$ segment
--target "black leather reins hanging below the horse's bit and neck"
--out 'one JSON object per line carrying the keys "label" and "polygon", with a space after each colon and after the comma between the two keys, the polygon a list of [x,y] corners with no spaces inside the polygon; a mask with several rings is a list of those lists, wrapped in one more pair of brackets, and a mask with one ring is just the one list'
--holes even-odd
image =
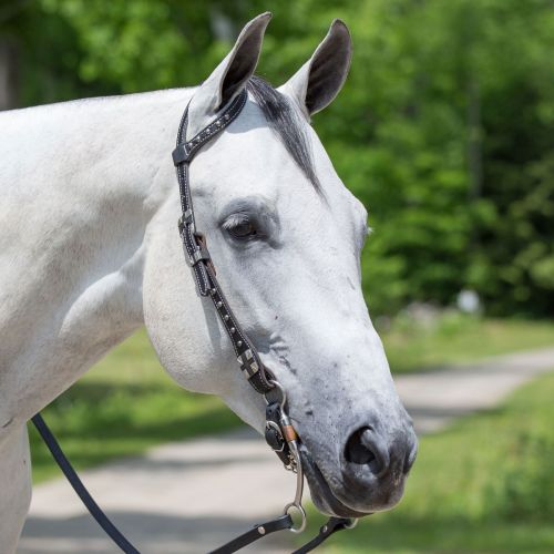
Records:
{"label": "black leather reins hanging below the horse's bit and neck", "polygon": [[[37,413],[31,421],[33,422],[37,431],[39,431],[44,444],[50,450],[55,463],[60,466],[66,480],[70,482],[82,503],[89,510],[90,514],[96,520],[98,524],[103,529],[104,533],[121,548],[125,554],[141,554],[122,534],[122,532],[111,522],[107,515],[96,504],[91,493],[86,490],[83,482],[79,478],[71,462],[68,460],[63,450],[61,449],[54,434],[47,425],[47,422],[40,413]],[[311,552],[316,546],[320,545],[324,541],[329,538],[334,533],[342,529],[348,529],[350,520],[331,517],[326,525],[319,530],[319,534],[304,546],[295,551],[293,554],[305,554]],[[232,554],[238,550],[252,544],[264,536],[267,536],[276,531],[284,531],[291,529],[294,525],[290,515],[285,514],[270,520],[266,523],[255,525],[252,530],[243,533],[242,535],[233,538],[219,548],[212,551],[211,554]]]}

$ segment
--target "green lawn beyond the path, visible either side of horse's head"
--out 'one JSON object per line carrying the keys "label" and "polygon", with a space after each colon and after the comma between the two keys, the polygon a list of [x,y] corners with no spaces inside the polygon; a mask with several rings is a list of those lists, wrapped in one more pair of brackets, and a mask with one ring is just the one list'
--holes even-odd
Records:
{"label": "green lawn beyond the path, visible either side of horse's head", "polygon": [[[409,371],[553,345],[554,324],[451,317],[421,329],[401,321],[383,334],[383,341],[392,369]],[[91,369],[44,410],[44,417],[79,469],[240,424],[218,399],[174,384],[144,330]],[[31,445],[35,482],[57,475],[34,429]]]}

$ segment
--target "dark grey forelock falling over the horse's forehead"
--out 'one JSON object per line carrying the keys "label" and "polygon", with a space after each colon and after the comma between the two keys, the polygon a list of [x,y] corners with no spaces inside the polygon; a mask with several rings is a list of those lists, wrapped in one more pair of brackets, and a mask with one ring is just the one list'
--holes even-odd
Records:
{"label": "dark grey forelock falling over the horse's forehead", "polygon": [[254,96],[269,125],[277,132],[287,152],[306,175],[314,188],[320,193],[309,147],[309,140],[298,122],[298,115],[284,94],[276,91],[267,81],[253,76],[246,85]]}

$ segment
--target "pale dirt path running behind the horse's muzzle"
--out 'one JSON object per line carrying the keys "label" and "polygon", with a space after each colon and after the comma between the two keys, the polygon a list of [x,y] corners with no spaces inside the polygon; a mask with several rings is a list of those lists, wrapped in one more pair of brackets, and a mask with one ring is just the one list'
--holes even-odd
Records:
{"label": "pale dirt path running behind the horse's muzzle", "polygon": [[[396,379],[419,434],[490,408],[554,369],[554,348],[490,358]],[[144,456],[83,472],[102,507],[143,554],[207,552],[279,513],[294,476],[250,430],[158,447]],[[287,552],[289,535],[249,552]],[[117,552],[64,480],[34,489],[19,554]],[[248,550],[245,550],[248,552]]]}

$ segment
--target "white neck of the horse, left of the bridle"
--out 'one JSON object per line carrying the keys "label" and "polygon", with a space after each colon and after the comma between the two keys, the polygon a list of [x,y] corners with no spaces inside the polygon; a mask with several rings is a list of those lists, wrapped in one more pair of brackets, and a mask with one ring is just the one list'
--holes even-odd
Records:
{"label": "white neck of the horse, left of the bridle", "polygon": [[0,252],[13,263],[0,273],[0,424],[13,407],[40,410],[143,324],[146,229],[176,186],[189,94],[2,115]]}

